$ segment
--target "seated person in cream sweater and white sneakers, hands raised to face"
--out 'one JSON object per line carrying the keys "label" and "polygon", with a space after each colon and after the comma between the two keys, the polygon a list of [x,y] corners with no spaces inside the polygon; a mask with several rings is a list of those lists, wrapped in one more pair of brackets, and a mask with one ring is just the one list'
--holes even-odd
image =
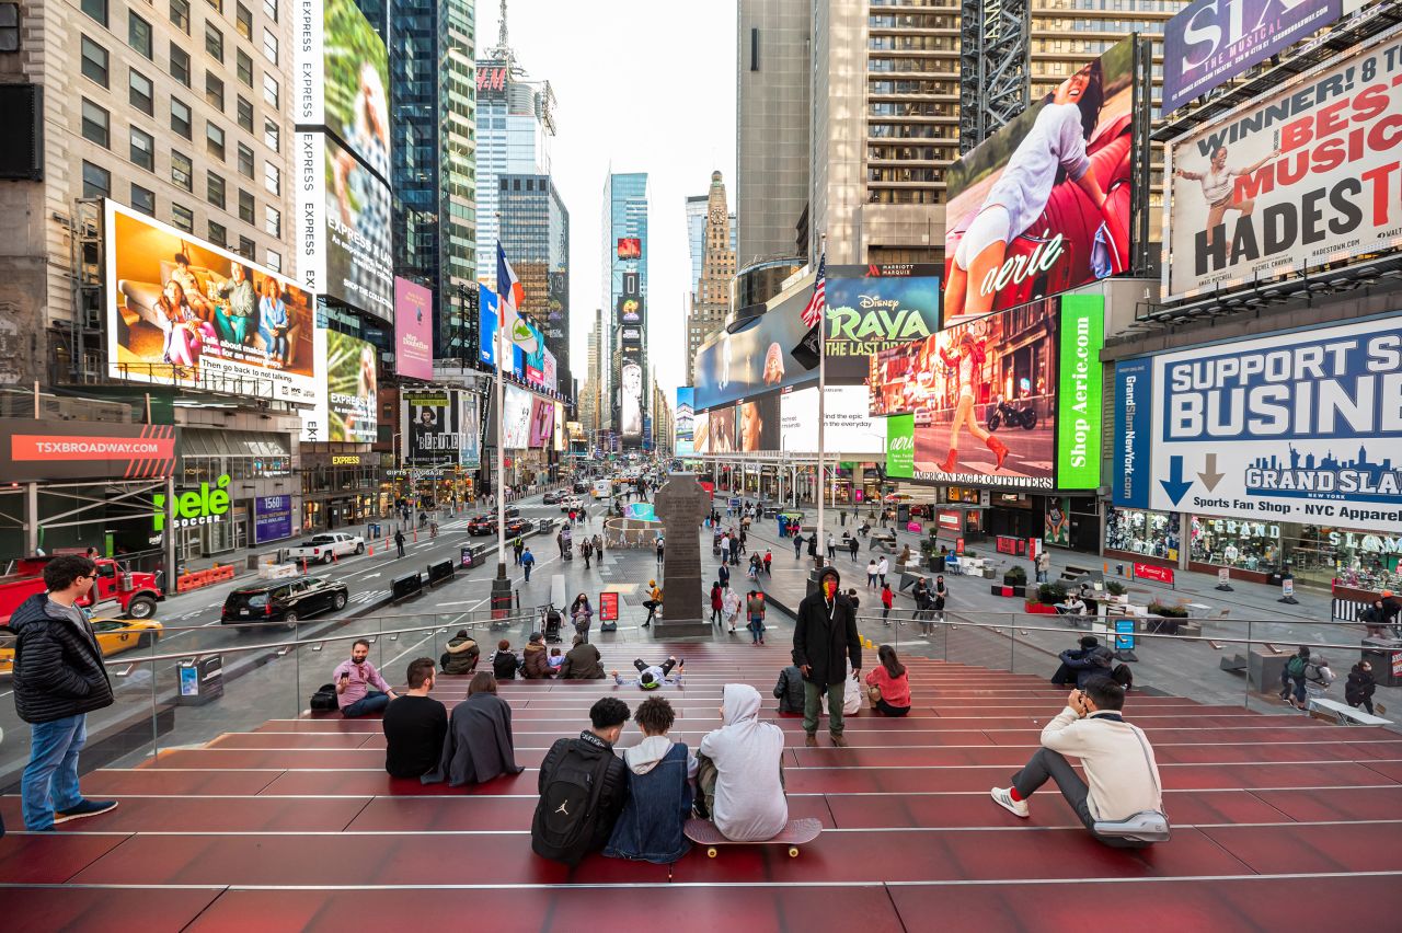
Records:
{"label": "seated person in cream sweater and white sneakers, hands raised to face", "polygon": [[[1071,691],[1066,709],[1042,730],[1042,747],[1012,776],[1011,787],[994,787],[993,801],[1015,817],[1032,815],[1028,801],[1047,780],[1091,834],[1115,848],[1140,848],[1126,827],[1145,815],[1162,820],[1162,783],[1154,748],[1144,731],[1124,721],[1124,688],[1108,677],[1089,678]],[[1085,780],[1067,755],[1081,759]],[[1116,825],[1119,824],[1119,825]]]}

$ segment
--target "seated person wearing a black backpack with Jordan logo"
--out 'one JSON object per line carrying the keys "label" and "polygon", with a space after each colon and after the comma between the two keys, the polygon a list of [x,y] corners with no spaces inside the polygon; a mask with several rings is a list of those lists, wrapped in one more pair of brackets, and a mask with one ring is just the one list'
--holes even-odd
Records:
{"label": "seated person wearing a black backpack with Jordan logo", "polygon": [[613,752],[628,705],[604,696],[589,709],[589,721],[579,738],[558,738],[545,752],[530,827],[531,850],[571,867],[608,843],[628,803],[628,766]]}

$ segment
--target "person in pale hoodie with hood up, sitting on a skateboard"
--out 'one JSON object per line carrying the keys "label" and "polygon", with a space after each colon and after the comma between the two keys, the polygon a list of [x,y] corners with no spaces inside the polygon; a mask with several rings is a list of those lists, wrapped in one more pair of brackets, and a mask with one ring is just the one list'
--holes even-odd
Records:
{"label": "person in pale hoodie with hood up, sitting on a skateboard", "polygon": [[760,692],[749,684],[726,684],[722,698],[723,726],[697,754],[697,787],[726,839],[773,839],[788,824],[784,730],[760,721]]}

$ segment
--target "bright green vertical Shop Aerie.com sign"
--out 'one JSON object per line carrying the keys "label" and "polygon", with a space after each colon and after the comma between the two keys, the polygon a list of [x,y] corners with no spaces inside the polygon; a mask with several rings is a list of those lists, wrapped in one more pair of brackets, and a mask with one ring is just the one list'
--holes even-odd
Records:
{"label": "bright green vertical Shop Aerie.com sign", "polygon": [[1061,387],[1057,403],[1056,481],[1060,489],[1101,485],[1101,349],[1105,346],[1105,297],[1061,298]]}

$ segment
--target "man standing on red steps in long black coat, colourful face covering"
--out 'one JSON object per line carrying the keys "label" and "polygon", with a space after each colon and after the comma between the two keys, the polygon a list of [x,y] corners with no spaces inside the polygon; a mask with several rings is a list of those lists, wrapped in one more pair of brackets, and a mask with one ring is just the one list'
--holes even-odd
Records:
{"label": "man standing on red steps in long black coat, colourful face covering", "polygon": [[862,668],[862,640],[857,635],[857,612],[843,595],[841,577],[833,567],[823,567],[817,590],[798,604],[798,623],[794,626],[794,663],[803,671],[803,731],[805,745],[817,745],[819,698],[827,695],[827,731],[833,744],[847,747],[843,738],[843,699],[847,661],[852,663],[852,677]]}

